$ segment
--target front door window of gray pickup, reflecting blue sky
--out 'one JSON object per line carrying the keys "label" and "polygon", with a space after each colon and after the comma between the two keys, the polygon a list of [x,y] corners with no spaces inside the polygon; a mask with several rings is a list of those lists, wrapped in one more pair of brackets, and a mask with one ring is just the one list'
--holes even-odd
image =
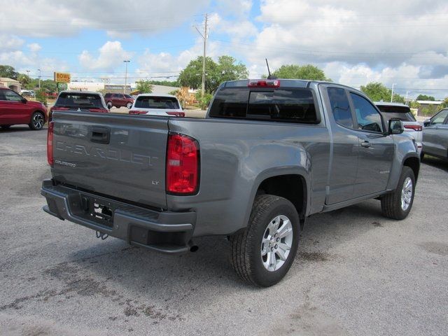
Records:
{"label": "front door window of gray pickup, reflecting blue sky", "polygon": [[370,132],[383,132],[381,115],[370,102],[358,94],[350,92],[351,100],[355,108],[358,130]]}

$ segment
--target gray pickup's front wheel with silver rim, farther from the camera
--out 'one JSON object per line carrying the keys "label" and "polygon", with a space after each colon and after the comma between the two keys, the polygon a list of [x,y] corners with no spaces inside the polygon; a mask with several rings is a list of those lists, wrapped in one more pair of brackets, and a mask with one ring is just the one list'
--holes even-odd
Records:
{"label": "gray pickup's front wheel with silver rim, farther from the camera", "polygon": [[381,211],[387,218],[402,220],[407,217],[414,203],[415,176],[412,169],[403,167],[398,186],[393,193],[381,198]]}

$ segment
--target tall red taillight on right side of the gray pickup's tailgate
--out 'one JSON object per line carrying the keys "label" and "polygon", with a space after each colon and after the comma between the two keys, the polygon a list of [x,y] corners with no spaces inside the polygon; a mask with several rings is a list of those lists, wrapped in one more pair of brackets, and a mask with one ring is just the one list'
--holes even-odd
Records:
{"label": "tall red taillight on right side of the gray pickup's tailgate", "polygon": [[193,138],[168,134],[167,193],[193,195],[199,188],[200,151]]}

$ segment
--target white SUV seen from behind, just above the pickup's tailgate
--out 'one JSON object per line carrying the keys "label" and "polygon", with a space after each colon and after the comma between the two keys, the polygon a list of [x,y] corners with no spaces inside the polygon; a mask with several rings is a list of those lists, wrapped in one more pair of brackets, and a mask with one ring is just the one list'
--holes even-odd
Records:
{"label": "white SUV seen from behind, just above the pickup's tailgate", "polygon": [[185,117],[179,100],[171,94],[139,94],[129,114]]}

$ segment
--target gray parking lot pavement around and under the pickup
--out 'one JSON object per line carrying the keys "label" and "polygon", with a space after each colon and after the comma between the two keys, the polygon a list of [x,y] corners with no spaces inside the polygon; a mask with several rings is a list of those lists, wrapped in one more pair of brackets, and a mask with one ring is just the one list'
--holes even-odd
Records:
{"label": "gray parking lot pavement around and under the pickup", "polygon": [[447,335],[448,165],[405,221],[371,200],[307,221],[277,286],[241,282],[222,237],[169,256],[41,211],[46,132],[0,131],[2,335]]}

